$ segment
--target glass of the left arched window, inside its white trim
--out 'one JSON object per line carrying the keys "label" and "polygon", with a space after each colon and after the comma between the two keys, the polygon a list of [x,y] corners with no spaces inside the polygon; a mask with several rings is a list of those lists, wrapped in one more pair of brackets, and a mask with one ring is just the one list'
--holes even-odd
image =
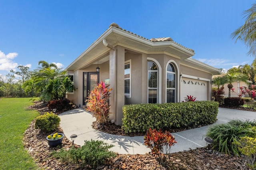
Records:
{"label": "glass of the left arched window, inside its white trim", "polygon": [[148,103],[158,103],[158,67],[148,61]]}

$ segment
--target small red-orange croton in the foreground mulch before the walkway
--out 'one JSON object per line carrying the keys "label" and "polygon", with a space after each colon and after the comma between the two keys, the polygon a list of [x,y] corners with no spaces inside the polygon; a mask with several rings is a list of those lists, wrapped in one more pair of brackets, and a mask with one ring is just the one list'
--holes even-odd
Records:
{"label": "small red-orange croton in the foreground mulch before the walkway", "polygon": [[166,166],[171,146],[177,143],[174,139],[174,136],[168,131],[162,132],[161,129],[157,131],[156,129],[152,130],[149,128],[144,136],[144,144],[151,149],[152,154],[158,156],[160,164]]}

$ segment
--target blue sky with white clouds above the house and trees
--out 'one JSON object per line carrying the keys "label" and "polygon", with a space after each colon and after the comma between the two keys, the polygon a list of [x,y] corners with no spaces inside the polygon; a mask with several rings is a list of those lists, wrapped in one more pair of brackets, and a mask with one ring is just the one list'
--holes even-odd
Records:
{"label": "blue sky with white clouds above the house and trees", "polygon": [[0,74],[38,61],[66,68],[112,22],[145,38],[171,37],[216,68],[251,64],[230,34],[252,0],[0,0]]}

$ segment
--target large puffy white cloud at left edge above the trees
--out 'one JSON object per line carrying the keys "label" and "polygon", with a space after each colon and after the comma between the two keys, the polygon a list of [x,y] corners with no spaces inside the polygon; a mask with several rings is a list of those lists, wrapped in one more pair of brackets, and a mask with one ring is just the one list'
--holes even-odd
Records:
{"label": "large puffy white cloud at left edge above the trees", "polygon": [[12,61],[12,59],[17,56],[18,53],[8,53],[7,55],[5,55],[2,51],[0,51],[0,70],[14,70],[18,66],[18,63],[15,63],[14,61]]}

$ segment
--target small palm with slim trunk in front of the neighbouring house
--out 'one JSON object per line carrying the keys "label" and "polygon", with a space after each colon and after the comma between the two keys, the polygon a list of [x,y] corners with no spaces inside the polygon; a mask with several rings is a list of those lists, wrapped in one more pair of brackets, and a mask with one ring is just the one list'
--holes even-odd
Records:
{"label": "small palm with slim trunk in front of the neighbouring house", "polygon": [[228,83],[228,97],[231,96],[231,89],[233,87],[232,83],[234,81],[244,81],[247,82],[247,76],[243,73],[226,73],[225,75],[226,83]]}

